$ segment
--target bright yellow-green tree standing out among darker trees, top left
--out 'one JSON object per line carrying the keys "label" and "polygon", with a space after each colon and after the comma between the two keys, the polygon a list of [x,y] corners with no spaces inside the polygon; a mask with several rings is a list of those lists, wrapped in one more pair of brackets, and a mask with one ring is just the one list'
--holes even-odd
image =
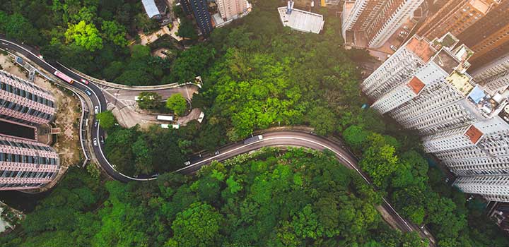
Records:
{"label": "bright yellow-green tree standing out among darker trees, top left", "polygon": [[78,24],[69,24],[65,32],[67,42],[74,41],[78,46],[84,47],[90,52],[103,49],[103,39],[100,37],[99,30],[93,23],[87,24],[81,20]]}

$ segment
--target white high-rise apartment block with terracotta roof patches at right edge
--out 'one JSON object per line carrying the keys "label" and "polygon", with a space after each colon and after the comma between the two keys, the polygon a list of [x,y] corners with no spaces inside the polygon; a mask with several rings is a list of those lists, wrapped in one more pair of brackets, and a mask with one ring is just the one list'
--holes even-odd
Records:
{"label": "white high-rise apartment block with terracotta roof patches at right edge", "polygon": [[509,201],[509,191],[492,191],[509,184],[491,179],[509,174],[509,90],[488,87],[505,63],[480,71],[487,83],[477,84],[466,72],[473,52],[458,43],[450,33],[431,42],[414,36],[361,88],[373,109],[420,133],[424,150],[459,176],[455,186]]}

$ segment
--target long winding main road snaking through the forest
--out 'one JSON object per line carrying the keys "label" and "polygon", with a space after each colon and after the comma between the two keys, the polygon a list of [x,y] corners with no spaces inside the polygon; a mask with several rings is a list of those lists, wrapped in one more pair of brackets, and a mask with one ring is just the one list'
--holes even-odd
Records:
{"label": "long winding main road snaking through the forest", "polygon": [[[94,83],[89,83],[88,85],[84,85],[80,83],[80,79],[86,79],[74,73],[69,68],[66,68],[60,64],[49,64],[45,60],[41,59],[39,52],[32,47],[28,47],[23,44],[17,44],[11,40],[6,40],[5,37],[0,36],[0,48],[6,49],[9,52],[17,52],[25,56],[25,58],[29,59],[32,63],[37,64],[41,68],[45,69],[45,71],[49,73],[54,73],[54,71],[61,71],[65,73],[67,76],[73,78],[76,82],[71,86],[76,88],[77,90],[81,90],[85,92],[85,90],[90,90],[91,95],[89,95],[90,102],[92,102],[93,107],[98,107],[99,111],[102,112],[106,110],[106,100],[103,95],[102,90]],[[60,81],[59,83],[66,84],[64,81]],[[93,109],[91,110],[93,112]],[[92,114],[92,113],[90,113]],[[95,116],[94,119],[95,121]],[[97,138],[100,140],[100,136],[103,135],[103,130],[100,128],[100,124],[98,126],[92,125],[92,133],[90,136],[92,138]],[[318,135],[314,135],[312,133],[307,133],[304,131],[268,131],[263,134],[263,139],[258,140],[254,143],[244,144],[244,143],[232,143],[225,147],[222,147],[218,150],[218,155],[201,155],[201,157],[195,157],[191,159],[191,164],[187,167],[183,167],[182,169],[177,170],[182,174],[192,174],[200,169],[200,167],[210,164],[213,160],[223,161],[230,157],[234,157],[236,155],[240,155],[242,153],[250,152],[252,150],[257,150],[261,147],[307,147],[313,150],[330,150],[334,152],[337,159],[344,164],[346,167],[350,169],[355,169],[358,174],[360,174],[366,183],[372,185],[368,176],[363,174],[363,172],[358,169],[358,164],[356,158],[354,158],[340,143],[335,143],[332,140],[327,138],[323,138]],[[126,176],[118,171],[115,171],[114,167],[110,162],[107,161],[104,153],[103,153],[103,143],[98,141],[97,146],[93,146],[93,153],[95,157],[98,159],[100,166],[109,174],[113,179],[118,181],[147,181],[156,179],[157,175],[153,176],[145,176],[145,177],[131,177]],[[434,239],[431,234],[427,231],[420,229],[419,227],[414,226],[413,224],[409,224],[403,219],[397,212],[394,210],[392,205],[383,198],[383,202],[381,205],[384,210],[390,215],[392,221],[397,224],[397,227],[402,231],[417,231],[423,238],[430,240],[430,246],[435,246]]]}

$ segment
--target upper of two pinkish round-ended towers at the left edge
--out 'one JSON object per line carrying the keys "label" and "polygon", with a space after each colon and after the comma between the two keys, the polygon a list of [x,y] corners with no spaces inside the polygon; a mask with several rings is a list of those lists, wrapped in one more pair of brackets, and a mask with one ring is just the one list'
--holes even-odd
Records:
{"label": "upper of two pinkish round-ended towers at the left edge", "polygon": [[0,119],[45,124],[57,112],[50,92],[33,83],[0,71]]}

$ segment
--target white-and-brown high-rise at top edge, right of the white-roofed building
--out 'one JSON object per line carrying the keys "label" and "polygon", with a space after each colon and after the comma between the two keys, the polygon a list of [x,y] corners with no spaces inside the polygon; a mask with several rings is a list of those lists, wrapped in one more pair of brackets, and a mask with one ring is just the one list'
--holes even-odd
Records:
{"label": "white-and-brown high-rise at top edge, right of the white-roofed building", "polygon": [[343,37],[364,35],[368,47],[381,47],[414,14],[423,0],[345,1],[341,18]]}

